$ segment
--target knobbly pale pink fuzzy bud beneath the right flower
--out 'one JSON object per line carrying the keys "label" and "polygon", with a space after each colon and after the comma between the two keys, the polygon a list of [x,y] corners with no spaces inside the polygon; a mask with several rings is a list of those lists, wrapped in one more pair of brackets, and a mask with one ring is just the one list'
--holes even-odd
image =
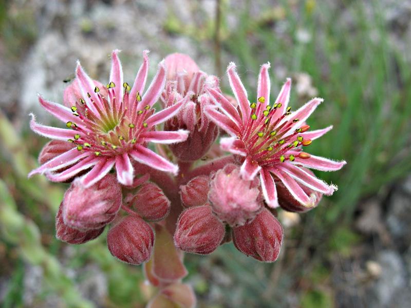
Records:
{"label": "knobbly pale pink fuzzy bud beneath the right flower", "polygon": [[230,226],[244,225],[261,210],[259,180],[243,180],[240,168],[229,164],[210,183],[209,200],[214,214]]}

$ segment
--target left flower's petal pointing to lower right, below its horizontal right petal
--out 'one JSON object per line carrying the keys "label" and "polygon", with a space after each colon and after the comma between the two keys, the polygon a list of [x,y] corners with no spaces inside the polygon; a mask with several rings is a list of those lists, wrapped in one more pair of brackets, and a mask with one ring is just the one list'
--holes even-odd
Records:
{"label": "left flower's petal pointing to lower right, below its horizontal right petal", "polygon": [[159,156],[157,153],[141,145],[138,145],[136,150],[130,152],[130,155],[139,163],[145,164],[157,170],[172,172],[174,175],[177,175],[177,165],[172,164],[165,158]]}

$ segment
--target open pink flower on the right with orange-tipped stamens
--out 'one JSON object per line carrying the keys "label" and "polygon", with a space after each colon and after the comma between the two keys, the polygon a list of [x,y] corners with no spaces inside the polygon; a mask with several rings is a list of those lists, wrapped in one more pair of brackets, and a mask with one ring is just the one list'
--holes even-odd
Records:
{"label": "open pink flower on the right with orange-tipped stamens", "polygon": [[217,90],[207,89],[214,106],[207,106],[208,117],[227,131],[231,137],[221,138],[221,148],[241,157],[241,176],[251,180],[259,174],[266,203],[277,207],[275,181],[281,181],[292,197],[305,207],[316,204],[316,195],[307,195],[301,185],[321,194],[332,195],[337,189],[316,178],[302,167],[323,171],[339,170],[345,161],[335,162],[310,155],[303,151],[313,140],[323,136],[332,127],[308,131],[305,121],[323,101],[312,99],[300,109],[288,107],[291,80],[288,79],[275,102],[270,105],[270,79],[264,64],[258,77],[257,101],[250,103],[231,63],[227,68],[230,86],[238,102],[238,108]]}

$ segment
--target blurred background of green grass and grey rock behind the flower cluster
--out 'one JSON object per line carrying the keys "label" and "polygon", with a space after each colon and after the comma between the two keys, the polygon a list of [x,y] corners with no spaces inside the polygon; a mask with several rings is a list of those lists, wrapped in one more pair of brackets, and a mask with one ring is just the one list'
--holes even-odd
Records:
{"label": "blurred background of green grass and grey rock behind the flower cluster", "polygon": [[316,155],[344,159],[318,172],[339,185],[303,215],[280,214],[279,260],[264,264],[226,244],[186,255],[199,307],[409,307],[411,303],[411,2],[408,0],[0,1],[0,305],[143,307],[140,266],[112,258],[102,236],[81,246],[54,238],[67,184],[28,180],[48,141],[36,93],[62,102],[76,60],[107,82],[109,53],[132,81],[144,49],[151,75],[172,52],[223,74],[234,61],[251,97],[271,62],[273,95],[293,79],[291,106],[325,102],[309,119],[334,129]]}

